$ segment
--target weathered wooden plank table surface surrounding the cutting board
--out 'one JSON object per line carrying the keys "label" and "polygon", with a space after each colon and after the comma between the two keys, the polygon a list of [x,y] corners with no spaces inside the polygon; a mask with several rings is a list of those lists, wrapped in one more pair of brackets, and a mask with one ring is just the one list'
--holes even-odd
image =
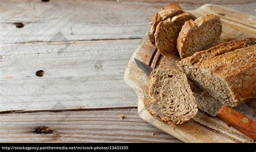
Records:
{"label": "weathered wooden plank table surface surrounding the cutting board", "polygon": [[[174,2],[256,13],[254,0]],[[0,142],[181,142],[139,118],[123,78],[153,13],[168,3],[1,0]]]}

